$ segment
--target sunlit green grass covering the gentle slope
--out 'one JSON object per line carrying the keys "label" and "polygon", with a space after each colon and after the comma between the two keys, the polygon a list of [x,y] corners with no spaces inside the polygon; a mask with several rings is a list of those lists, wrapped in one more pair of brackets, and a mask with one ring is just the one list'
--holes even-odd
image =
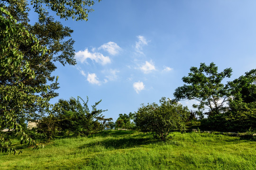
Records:
{"label": "sunlit green grass covering the gentle slope", "polygon": [[0,170],[256,170],[256,142],[235,136],[175,132],[167,142],[151,134],[106,131],[56,139],[22,154],[0,153]]}

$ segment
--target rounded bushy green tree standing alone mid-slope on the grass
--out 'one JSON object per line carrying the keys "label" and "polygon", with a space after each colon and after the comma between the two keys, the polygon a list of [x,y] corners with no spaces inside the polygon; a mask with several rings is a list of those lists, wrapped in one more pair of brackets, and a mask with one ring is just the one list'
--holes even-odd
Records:
{"label": "rounded bushy green tree standing alone mid-slope on the grass", "polygon": [[155,136],[165,141],[172,130],[185,128],[189,113],[187,107],[163,97],[159,106],[156,103],[142,104],[135,112],[135,123],[142,131],[155,132]]}

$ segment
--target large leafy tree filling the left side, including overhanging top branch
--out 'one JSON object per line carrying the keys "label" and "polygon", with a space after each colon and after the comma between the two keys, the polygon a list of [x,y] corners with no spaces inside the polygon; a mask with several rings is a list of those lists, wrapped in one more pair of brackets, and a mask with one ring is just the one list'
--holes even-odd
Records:
{"label": "large leafy tree filling the left side, including overhanging top branch", "polygon": [[[61,18],[87,20],[91,0],[31,0],[38,22],[29,24],[26,0],[0,2],[0,130],[14,129],[22,141],[33,142],[20,125],[21,120],[47,112],[48,101],[57,96],[57,78],[51,76],[55,61],[74,65],[73,32],[48,16],[51,8]],[[44,8],[46,7],[46,8]],[[53,82],[55,80],[55,82]],[[53,83],[50,83],[53,82]],[[13,151],[0,131],[0,151]]]}

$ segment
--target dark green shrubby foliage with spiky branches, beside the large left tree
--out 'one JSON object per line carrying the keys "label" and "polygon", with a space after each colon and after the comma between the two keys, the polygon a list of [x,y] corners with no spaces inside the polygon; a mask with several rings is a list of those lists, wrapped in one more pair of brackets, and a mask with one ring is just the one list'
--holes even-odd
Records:
{"label": "dark green shrubby foliage with spiky branches, beside the large left tree", "polygon": [[[81,103],[82,101],[82,103]],[[81,97],[70,98],[68,101],[60,99],[55,104],[53,111],[58,119],[58,126],[62,132],[73,133],[78,135],[90,135],[105,129],[107,123],[112,118],[105,118],[102,112],[96,107],[101,101],[92,105],[92,110],[88,107],[88,97],[85,102]]]}

